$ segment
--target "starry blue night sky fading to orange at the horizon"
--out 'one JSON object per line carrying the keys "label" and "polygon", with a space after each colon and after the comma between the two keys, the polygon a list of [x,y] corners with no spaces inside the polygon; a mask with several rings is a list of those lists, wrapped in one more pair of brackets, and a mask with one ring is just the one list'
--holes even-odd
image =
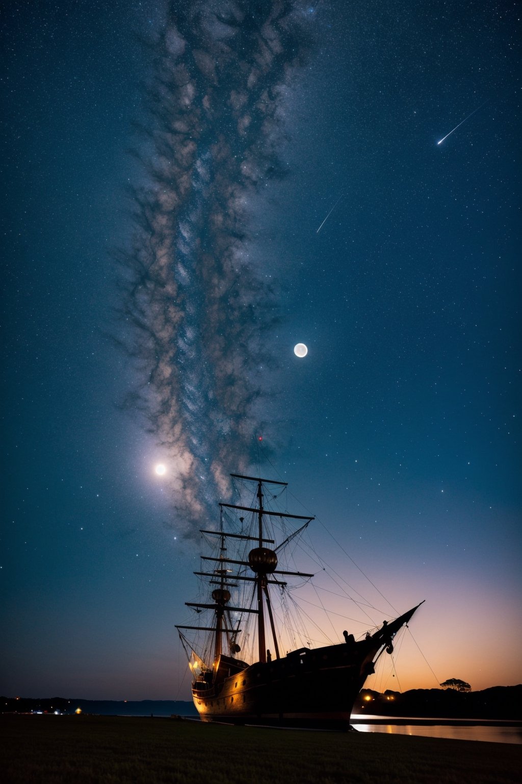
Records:
{"label": "starry blue night sky fading to orange at the horizon", "polygon": [[426,599],[370,688],[522,681],[517,5],[0,24],[0,693],[189,699],[197,532],[260,463],[373,622]]}

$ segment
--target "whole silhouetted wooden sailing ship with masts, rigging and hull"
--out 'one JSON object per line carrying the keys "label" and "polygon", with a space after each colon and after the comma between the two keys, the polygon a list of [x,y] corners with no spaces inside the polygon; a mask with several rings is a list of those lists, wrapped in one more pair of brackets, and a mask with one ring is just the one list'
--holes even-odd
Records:
{"label": "whole silhouetted wooden sailing ship with masts, rigging and hull", "polygon": [[[241,474],[231,477],[236,485],[250,486],[250,501],[220,503],[217,530],[201,530],[214,549],[213,554],[201,556],[202,571],[194,574],[210,597],[207,593],[201,601],[185,602],[207,620],[176,626],[189,657],[193,701],[200,718],[231,724],[347,728],[366,678],[375,672],[383,652],[393,652],[395,635],[419,604],[383,621],[357,641],[344,631],[340,642],[314,648],[308,638],[308,644],[283,652],[273,593],[279,591],[284,600],[288,580],[303,583],[314,574],[278,568],[279,558],[293,548],[315,517],[272,508],[272,500],[286,490],[285,482]],[[295,635],[290,634],[290,639],[295,641]],[[241,645],[248,648],[249,643],[255,649],[245,657],[249,661],[243,661]]]}

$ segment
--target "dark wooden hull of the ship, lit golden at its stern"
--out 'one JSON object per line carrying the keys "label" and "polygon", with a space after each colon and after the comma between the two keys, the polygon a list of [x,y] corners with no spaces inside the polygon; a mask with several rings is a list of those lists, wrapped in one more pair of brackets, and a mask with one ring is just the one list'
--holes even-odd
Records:
{"label": "dark wooden hull of the ship, lit golden at its stern", "polygon": [[203,721],[346,728],[378,648],[372,640],[304,648],[237,671],[221,657],[212,683],[193,683],[194,704]]}

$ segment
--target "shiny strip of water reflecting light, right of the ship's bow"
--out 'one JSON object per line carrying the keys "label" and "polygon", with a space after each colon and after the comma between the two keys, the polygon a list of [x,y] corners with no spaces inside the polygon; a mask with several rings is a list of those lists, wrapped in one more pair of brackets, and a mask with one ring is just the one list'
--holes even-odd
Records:
{"label": "shiny strip of water reflecting light, right of the ship's bow", "polygon": [[[423,735],[425,738],[449,738],[452,740],[481,740],[489,743],[519,743],[522,744],[522,726],[518,724],[481,722],[481,724],[467,724],[464,720],[438,719],[444,722],[437,724],[437,719],[427,719],[434,724],[417,724],[422,719],[412,720],[412,724],[358,724],[358,716],[352,715],[351,724],[359,732],[386,732],[388,735]],[[365,716],[365,719],[369,719]],[[388,717],[371,717],[386,720]],[[403,721],[408,721],[405,719]],[[446,723],[448,722],[448,723]],[[451,723],[449,723],[451,722]]]}

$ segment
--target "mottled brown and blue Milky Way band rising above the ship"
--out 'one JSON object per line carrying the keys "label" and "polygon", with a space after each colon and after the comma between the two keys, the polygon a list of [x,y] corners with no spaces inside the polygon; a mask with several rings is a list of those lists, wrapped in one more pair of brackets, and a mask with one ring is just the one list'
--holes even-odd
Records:
{"label": "mottled brown and blue Milky Way band rising above the ship", "polygon": [[[247,470],[270,392],[276,292],[252,261],[259,194],[284,176],[286,96],[304,56],[290,2],[171,2],[154,43],[146,185],[119,254],[141,383],[131,405],[168,456],[176,525],[215,514]],[[259,254],[257,254],[258,257]]]}

